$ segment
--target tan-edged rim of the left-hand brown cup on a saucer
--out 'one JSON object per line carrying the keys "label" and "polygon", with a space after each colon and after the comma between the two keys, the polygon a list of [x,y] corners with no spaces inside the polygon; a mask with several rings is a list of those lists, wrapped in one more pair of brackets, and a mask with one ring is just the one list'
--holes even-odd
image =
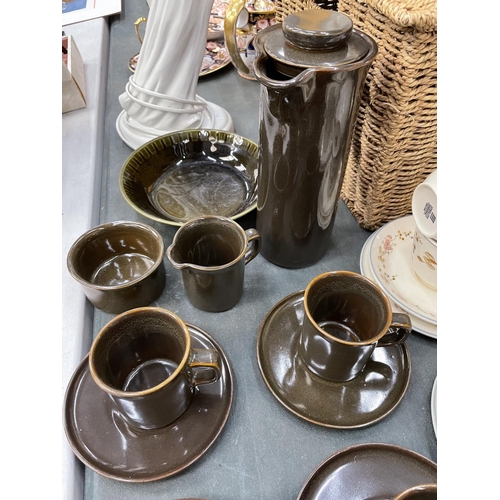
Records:
{"label": "tan-edged rim of the left-hand brown cup on a saucer", "polygon": [[[116,389],[115,387],[112,387],[106,382],[104,382],[99,375],[97,375],[96,369],[95,369],[95,364],[94,364],[94,356],[95,356],[95,350],[96,350],[96,345],[99,343],[99,340],[106,334],[107,330],[114,326],[116,323],[121,322],[124,318],[127,318],[128,316],[135,316],[137,314],[147,314],[147,313],[154,313],[154,314],[160,314],[162,316],[167,316],[171,319],[174,319],[179,323],[179,325],[182,327],[182,331],[184,333],[184,340],[186,342],[186,348],[184,350],[184,356],[182,357],[181,362],[179,363],[179,366],[175,369],[175,371],[165,379],[163,382],[161,382],[158,385],[155,385],[154,387],[151,387],[149,389],[146,389],[144,391],[121,391],[119,389]],[[186,363],[189,358],[189,353],[191,351],[191,336],[189,334],[189,329],[182,321],[177,314],[167,311],[166,309],[162,309],[160,307],[138,307],[136,309],[131,309],[130,311],[125,311],[124,313],[119,314],[118,316],[114,317],[109,323],[103,326],[101,331],[98,333],[97,337],[95,338],[94,342],[92,343],[92,347],[90,348],[90,353],[89,353],[89,369],[90,369],[90,374],[92,375],[92,378],[94,379],[94,382],[105,392],[108,394],[112,394],[113,396],[117,396],[120,398],[136,398],[138,396],[146,396],[147,394],[151,394],[153,392],[157,392],[159,389],[162,387],[165,387],[167,384],[169,384],[177,375],[184,369],[186,366]]]}

